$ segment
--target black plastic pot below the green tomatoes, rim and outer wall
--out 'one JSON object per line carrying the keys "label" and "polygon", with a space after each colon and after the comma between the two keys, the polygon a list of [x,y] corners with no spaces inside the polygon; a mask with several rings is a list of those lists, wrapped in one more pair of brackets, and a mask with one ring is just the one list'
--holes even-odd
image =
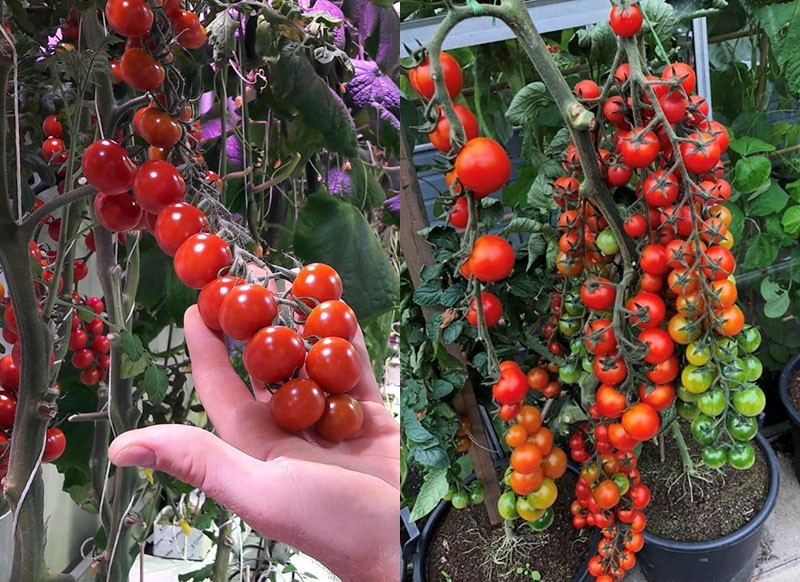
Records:
{"label": "black plastic pot below the green tomatoes, rim and outer wall", "polygon": [[756,443],[769,467],[769,490],[764,506],[742,529],[718,540],[679,542],[645,530],[644,548],[637,555],[649,582],[750,582],[758,559],[764,523],[778,498],[778,458],[760,434]]}

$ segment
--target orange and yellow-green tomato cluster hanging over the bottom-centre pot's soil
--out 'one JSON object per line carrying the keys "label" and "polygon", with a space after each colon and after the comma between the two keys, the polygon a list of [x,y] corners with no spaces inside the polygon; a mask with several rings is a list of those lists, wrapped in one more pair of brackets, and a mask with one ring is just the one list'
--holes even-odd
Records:
{"label": "orange and yellow-green tomato cluster hanging over the bottom-centre pot's soil", "polygon": [[504,482],[510,488],[497,501],[503,519],[522,518],[536,531],[553,523],[558,497],[556,479],[567,470],[567,455],[554,446],[553,433],[542,426],[538,408],[525,404],[504,435],[511,449]]}

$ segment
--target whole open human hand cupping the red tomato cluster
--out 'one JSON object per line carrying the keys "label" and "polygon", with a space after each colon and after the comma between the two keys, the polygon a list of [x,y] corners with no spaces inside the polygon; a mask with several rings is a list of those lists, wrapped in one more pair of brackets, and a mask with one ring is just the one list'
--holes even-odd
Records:
{"label": "whole open human hand cupping the red tomato cluster", "polygon": [[253,396],[197,306],[184,325],[195,389],[219,436],[183,425],[133,430],[111,444],[111,462],[151,467],[201,489],[344,581],[398,580],[400,429],[383,406],[361,331],[353,345],[364,371],[350,394],[364,424],[356,438],[333,443],[275,426],[269,391],[254,385]]}

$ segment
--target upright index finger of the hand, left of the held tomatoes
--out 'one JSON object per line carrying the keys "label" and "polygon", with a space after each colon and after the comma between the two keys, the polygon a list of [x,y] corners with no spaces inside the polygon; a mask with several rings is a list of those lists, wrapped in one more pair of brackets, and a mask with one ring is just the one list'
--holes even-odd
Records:
{"label": "upright index finger of the hand, left of the held tomatoes", "polygon": [[214,426],[223,432],[235,429],[234,412],[253,402],[253,396],[233,369],[225,340],[206,327],[196,305],[186,310],[183,323],[197,394]]}

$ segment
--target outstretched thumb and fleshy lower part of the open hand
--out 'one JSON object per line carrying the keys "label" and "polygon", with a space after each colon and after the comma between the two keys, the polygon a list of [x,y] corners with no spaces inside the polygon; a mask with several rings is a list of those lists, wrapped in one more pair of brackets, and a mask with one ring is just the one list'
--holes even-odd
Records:
{"label": "outstretched thumb and fleshy lower part of the open hand", "polygon": [[[258,532],[314,556],[343,579],[396,576],[389,562],[399,548],[399,496],[376,477],[285,457],[259,461],[183,425],[126,432],[111,444],[109,458],[201,489]],[[341,535],[345,524],[356,527]]]}

